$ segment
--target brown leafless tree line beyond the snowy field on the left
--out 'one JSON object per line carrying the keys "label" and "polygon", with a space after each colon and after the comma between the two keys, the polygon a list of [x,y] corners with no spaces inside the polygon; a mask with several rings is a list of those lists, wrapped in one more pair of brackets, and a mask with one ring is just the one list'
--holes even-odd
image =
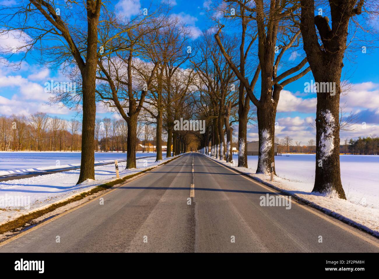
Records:
{"label": "brown leafless tree line beyond the snowy field on the left", "polygon": [[[96,119],[94,151],[126,152],[127,130],[127,123],[122,119]],[[137,144],[156,145],[153,135],[154,126],[138,123]],[[28,117],[15,114],[0,115],[0,150],[81,151],[81,122],[76,119],[68,121],[42,112]]]}

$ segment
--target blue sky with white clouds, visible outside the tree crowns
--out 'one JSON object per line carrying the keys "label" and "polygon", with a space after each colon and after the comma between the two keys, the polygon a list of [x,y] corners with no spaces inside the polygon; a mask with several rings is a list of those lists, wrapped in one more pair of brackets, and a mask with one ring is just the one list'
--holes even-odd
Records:
{"label": "blue sky with white clouds, visible outside the tree crowns", "polygon": [[[160,1],[160,0],[157,0]],[[167,1],[167,0],[164,0]],[[172,6],[172,13],[179,16],[183,22],[189,27],[193,34],[193,39],[201,35],[202,30],[207,30],[212,23],[207,18],[207,8],[210,1],[193,0],[168,0]],[[14,0],[0,1],[0,5],[14,5]],[[139,0],[119,0],[113,2],[116,12],[125,16],[133,16],[145,6],[147,1]],[[379,24],[375,24],[379,26]],[[17,44],[16,38],[0,38],[0,47],[9,44]],[[362,45],[365,45],[362,42]],[[376,43],[376,47],[379,46]],[[301,50],[299,51],[301,55]],[[14,56],[21,57],[22,54]],[[283,57],[292,63],[299,63],[302,57],[291,55]],[[18,58],[18,59],[19,59]],[[356,130],[350,132],[341,132],[341,139],[357,138],[358,136],[368,136],[370,134],[379,135],[379,50],[368,46],[367,53],[355,51],[350,53],[350,59],[344,61],[343,75],[352,85],[352,91],[341,97],[341,103],[346,102],[346,111],[355,111],[360,120],[356,125]],[[279,70],[280,72],[280,70]],[[44,111],[51,115],[70,119],[75,114],[67,109],[60,108],[57,105],[45,105],[48,100],[48,94],[44,92],[44,83],[50,79],[66,81],[59,72],[44,69],[40,65],[34,63],[31,57],[22,63],[19,71],[0,64],[0,114],[11,115],[31,114],[36,111]],[[307,74],[296,82],[287,85],[281,95],[278,105],[277,119],[279,127],[276,130],[276,136],[282,138],[286,135],[302,143],[315,138],[315,129],[310,123],[313,123],[315,116],[316,94],[304,93],[304,83],[309,82],[312,74]],[[257,95],[260,91],[260,81],[256,86]],[[101,105],[97,109],[98,117],[109,116],[105,108]],[[118,117],[117,114],[112,114]],[[80,118],[80,116],[77,116]],[[366,125],[362,125],[365,122]],[[248,130],[248,139],[256,140],[258,138],[256,127],[250,127]]]}

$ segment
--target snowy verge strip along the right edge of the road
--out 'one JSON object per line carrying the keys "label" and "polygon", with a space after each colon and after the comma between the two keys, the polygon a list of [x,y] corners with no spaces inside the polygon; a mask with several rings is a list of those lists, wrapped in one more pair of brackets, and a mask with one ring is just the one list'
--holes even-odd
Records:
{"label": "snowy verge strip along the right edge of the road", "polygon": [[204,156],[228,168],[234,169],[237,172],[246,174],[260,183],[303,201],[351,226],[365,230],[375,237],[379,237],[379,208],[363,207],[361,205],[352,204],[344,199],[327,196],[321,193],[293,190],[293,188],[299,188],[293,187],[293,185],[301,182],[294,182],[277,176],[274,176],[274,181],[271,182],[270,174],[256,174],[252,169],[236,167],[233,166],[233,163],[227,163],[225,160],[216,160],[209,155]]}

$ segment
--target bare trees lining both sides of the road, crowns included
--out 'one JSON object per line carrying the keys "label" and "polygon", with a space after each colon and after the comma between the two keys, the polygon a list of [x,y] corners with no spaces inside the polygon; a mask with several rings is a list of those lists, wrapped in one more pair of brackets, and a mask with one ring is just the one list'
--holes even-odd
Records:
{"label": "bare trees lining both sides of the road, crowns included", "polygon": [[[162,159],[164,129],[166,157],[171,156],[171,144],[174,155],[188,150],[194,135],[202,152],[210,143],[211,155],[230,161],[233,124],[238,123],[241,167],[247,167],[247,125],[257,121],[257,172],[269,172],[280,92],[312,72],[315,82],[334,85],[333,92],[317,92],[313,190],[335,191],[346,199],[339,149],[334,148],[340,144],[343,58],[352,39],[349,28],[360,27],[357,36],[377,12],[376,2],[220,0],[208,11],[214,27],[197,41],[169,8],[151,3],[147,10],[127,18],[101,0],[29,0],[1,9],[3,34],[27,34],[25,44],[8,50],[10,56],[40,52],[42,64],[59,65],[80,85],[77,94],[53,92],[51,98],[83,112],[78,183],[94,179],[96,102],[117,111],[127,125],[127,168],[136,166],[141,118],[156,127],[157,160]],[[300,61],[283,60],[297,50],[304,53]],[[204,133],[174,129],[174,120],[193,117],[205,120]]]}

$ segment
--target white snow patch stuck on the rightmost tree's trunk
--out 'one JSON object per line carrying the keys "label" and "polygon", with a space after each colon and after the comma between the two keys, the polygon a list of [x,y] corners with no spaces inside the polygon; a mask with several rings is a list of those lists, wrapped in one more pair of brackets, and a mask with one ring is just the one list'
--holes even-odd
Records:
{"label": "white snow patch stuck on the rightmost tree's trunk", "polygon": [[321,155],[320,158],[321,160],[324,160],[332,154],[332,151],[334,149],[333,132],[335,128],[335,120],[329,110],[326,110],[322,114],[325,118],[325,133],[321,133],[319,146]]}

